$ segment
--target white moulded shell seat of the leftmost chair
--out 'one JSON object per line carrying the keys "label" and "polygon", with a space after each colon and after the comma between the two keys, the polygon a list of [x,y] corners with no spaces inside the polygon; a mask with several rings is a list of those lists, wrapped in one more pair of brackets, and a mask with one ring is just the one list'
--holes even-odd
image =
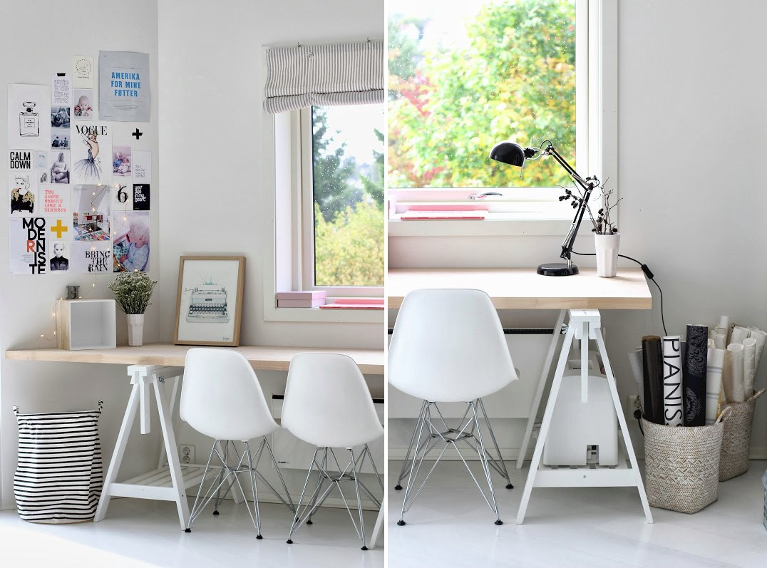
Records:
{"label": "white moulded shell seat of the leftmost chair", "polygon": [[232,350],[186,352],[179,413],[192,428],[219,440],[249,440],[279,428],[252,366]]}

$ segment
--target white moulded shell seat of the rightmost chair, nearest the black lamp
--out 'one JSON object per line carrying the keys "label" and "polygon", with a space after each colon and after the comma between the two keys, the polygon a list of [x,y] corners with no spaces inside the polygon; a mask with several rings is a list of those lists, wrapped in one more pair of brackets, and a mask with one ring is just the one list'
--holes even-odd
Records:
{"label": "white moulded shell seat of the rightmost chair, nearest the black lamp", "polygon": [[479,290],[417,290],[397,314],[389,382],[432,402],[468,402],[517,379],[490,297]]}

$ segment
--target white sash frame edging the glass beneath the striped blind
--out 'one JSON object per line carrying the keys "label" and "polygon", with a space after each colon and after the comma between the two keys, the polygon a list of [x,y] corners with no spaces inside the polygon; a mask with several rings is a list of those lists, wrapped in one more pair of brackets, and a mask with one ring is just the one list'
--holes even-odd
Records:
{"label": "white sash frame edging the glass beneath the striped blind", "polygon": [[[311,108],[295,111],[300,128],[301,160],[301,281],[302,290],[324,290],[328,297],[384,297],[383,286],[318,286],[314,284],[314,152],[312,144]],[[384,215],[381,212],[381,215]],[[384,235],[381,235],[384,240]]]}

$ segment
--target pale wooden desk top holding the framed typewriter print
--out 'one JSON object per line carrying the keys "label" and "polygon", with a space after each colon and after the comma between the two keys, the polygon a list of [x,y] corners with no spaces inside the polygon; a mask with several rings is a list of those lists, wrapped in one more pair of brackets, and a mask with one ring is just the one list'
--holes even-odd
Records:
{"label": "pale wooden desk top holding the framed typewriter print", "polygon": [[[184,365],[189,345],[150,343],[140,347],[118,346],[112,349],[67,351],[61,349],[8,350],[5,358],[17,361],[52,361],[54,363],[113,363],[120,365]],[[357,362],[360,371],[370,375],[384,374],[384,351],[372,349],[320,349],[316,347],[240,346],[212,349],[233,349],[249,360],[253,369],[287,371],[296,353],[341,353]]]}

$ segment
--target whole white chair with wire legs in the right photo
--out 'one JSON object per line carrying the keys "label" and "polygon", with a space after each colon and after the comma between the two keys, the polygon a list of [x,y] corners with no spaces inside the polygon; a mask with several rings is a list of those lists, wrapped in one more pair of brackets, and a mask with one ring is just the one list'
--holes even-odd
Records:
{"label": "whole white chair with wire legs in the right photo", "polygon": [[[395,487],[402,489],[400,483],[407,475],[397,524],[405,524],[405,513],[447,448],[452,446],[469,469],[458,442],[479,455],[489,494],[470,469],[469,474],[495,513],[495,524],[503,524],[495,501],[491,468],[505,478],[507,489],[513,486],[482,397],[499,391],[518,377],[490,297],[479,290],[418,290],[408,294],[394,325],[387,373],[392,386],[423,399]],[[451,427],[443,419],[437,407],[439,402],[466,402],[466,412],[457,425]],[[495,456],[487,448],[490,443],[495,446]],[[438,445],[443,448],[416,489],[423,461]]]}

